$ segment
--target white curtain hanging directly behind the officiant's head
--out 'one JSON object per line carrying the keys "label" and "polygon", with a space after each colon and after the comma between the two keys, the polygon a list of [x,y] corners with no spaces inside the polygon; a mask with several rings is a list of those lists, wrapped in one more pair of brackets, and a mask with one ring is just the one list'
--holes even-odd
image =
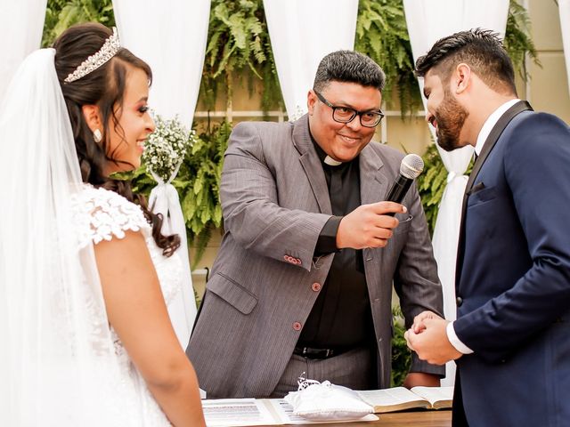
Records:
{"label": "white curtain hanging directly behind the officiant's head", "polygon": [[322,57],[354,49],[358,0],[264,0],[264,8],[287,114],[296,119]]}

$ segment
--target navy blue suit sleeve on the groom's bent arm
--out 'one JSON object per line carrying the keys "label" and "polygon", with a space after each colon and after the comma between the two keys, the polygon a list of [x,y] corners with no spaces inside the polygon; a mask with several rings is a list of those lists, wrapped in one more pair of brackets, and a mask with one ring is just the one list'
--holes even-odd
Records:
{"label": "navy blue suit sleeve on the groom's bent arm", "polygon": [[532,267],[454,323],[460,340],[489,361],[508,357],[570,307],[570,130],[556,117],[533,114],[507,142],[505,179]]}

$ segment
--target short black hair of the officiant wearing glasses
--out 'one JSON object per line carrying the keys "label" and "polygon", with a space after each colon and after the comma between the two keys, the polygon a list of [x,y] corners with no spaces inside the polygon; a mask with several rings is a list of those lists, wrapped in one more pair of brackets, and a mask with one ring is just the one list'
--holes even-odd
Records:
{"label": "short black hair of the officiant wearing glasses", "polygon": [[344,50],[330,52],[322,58],[314,76],[313,89],[322,91],[330,82],[356,83],[376,87],[382,92],[386,75],[368,56]]}

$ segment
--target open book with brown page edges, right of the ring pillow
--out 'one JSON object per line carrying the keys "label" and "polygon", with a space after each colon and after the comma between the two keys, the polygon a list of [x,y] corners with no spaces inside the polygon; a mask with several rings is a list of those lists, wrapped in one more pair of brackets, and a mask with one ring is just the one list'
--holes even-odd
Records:
{"label": "open book with brown page edges, right of the ring pillow", "polygon": [[448,387],[394,387],[384,390],[356,391],[360,398],[374,407],[376,414],[402,411],[414,407],[441,409],[452,407],[453,386]]}

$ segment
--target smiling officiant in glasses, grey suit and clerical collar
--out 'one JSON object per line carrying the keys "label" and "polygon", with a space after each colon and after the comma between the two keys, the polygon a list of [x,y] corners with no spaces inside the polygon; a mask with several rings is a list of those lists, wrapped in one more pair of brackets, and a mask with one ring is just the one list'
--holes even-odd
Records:
{"label": "smiling officiant in glasses, grey suit and clerical collar", "polygon": [[[292,123],[240,123],[224,158],[224,239],[187,354],[210,398],[282,397],[306,378],[390,385],[392,285],[406,325],[442,311],[428,226],[412,187],[384,201],[403,155],[372,142],[385,76],[325,56]],[[443,367],[413,356],[407,386]]]}

